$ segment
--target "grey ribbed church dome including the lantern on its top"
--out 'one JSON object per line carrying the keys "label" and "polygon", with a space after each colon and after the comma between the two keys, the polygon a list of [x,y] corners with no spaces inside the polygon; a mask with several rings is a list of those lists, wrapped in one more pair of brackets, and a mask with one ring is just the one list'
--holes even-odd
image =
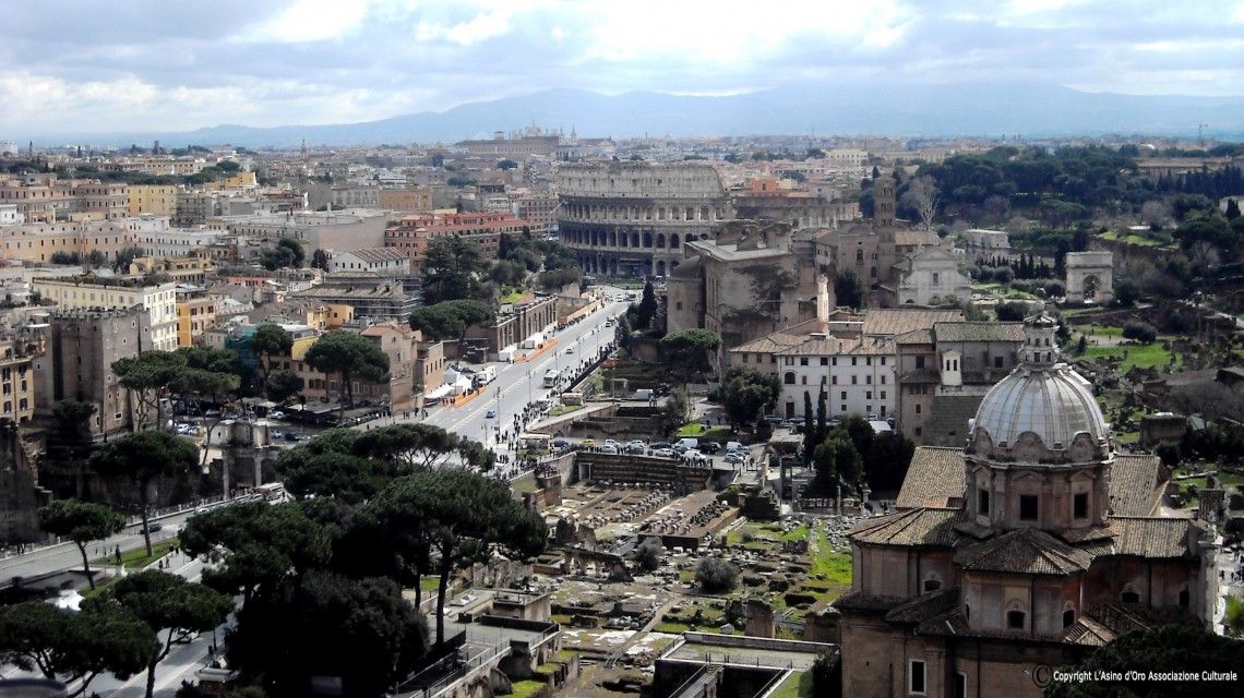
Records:
{"label": "grey ribbed church dome including the lantern on its top", "polygon": [[[1092,384],[1059,361],[1057,323],[1039,315],[1024,322],[1020,365],[980,401],[969,428],[969,450],[989,457],[1006,452],[1024,460],[1081,460],[1108,450],[1110,427],[1092,394]],[[1079,438],[1086,434],[1087,438]],[[1085,443],[1087,442],[1087,443]],[[1016,447],[1024,444],[1016,452]],[[1035,449],[1035,450],[1034,450]]]}

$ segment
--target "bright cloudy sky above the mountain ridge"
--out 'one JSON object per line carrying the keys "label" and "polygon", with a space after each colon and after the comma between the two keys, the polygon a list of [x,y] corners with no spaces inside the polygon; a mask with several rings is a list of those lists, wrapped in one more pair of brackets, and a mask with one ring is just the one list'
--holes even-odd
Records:
{"label": "bright cloudy sky above the mountain ridge", "polygon": [[[581,87],[1244,93],[1244,0],[0,0],[0,139],[368,121]],[[515,124],[516,126],[516,124]]]}

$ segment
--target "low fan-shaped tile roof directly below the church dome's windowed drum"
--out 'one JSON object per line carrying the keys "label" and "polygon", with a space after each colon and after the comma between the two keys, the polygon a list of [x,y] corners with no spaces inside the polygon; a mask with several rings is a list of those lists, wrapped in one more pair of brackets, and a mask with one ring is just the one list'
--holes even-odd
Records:
{"label": "low fan-shaped tile roof directly below the church dome's windowed drum", "polygon": [[1088,571],[1092,556],[1045,531],[1020,529],[960,549],[954,564],[978,572],[1061,576]]}

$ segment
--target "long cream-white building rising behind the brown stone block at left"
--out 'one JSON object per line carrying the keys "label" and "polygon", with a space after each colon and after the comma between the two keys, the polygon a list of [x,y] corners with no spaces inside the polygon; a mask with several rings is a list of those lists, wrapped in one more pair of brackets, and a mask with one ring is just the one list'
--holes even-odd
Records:
{"label": "long cream-white building rising behind the brown stone block at left", "polygon": [[[137,284],[136,281],[126,281]],[[174,351],[177,348],[177,284],[154,286],[122,286],[118,280],[95,277],[35,279],[31,291],[44,300],[53,301],[60,309],[109,309],[126,310],[143,306],[152,321],[152,346]]]}

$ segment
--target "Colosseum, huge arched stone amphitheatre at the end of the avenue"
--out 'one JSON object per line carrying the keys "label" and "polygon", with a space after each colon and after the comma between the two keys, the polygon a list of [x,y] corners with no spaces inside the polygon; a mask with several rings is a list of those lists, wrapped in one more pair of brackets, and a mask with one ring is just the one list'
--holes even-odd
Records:
{"label": "Colosseum, huge arched stone amphitheatre at the end of the avenue", "polygon": [[557,168],[561,241],[586,274],[664,276],[683,243],[707,240],[734,218],[709,164],[611,162]]}

